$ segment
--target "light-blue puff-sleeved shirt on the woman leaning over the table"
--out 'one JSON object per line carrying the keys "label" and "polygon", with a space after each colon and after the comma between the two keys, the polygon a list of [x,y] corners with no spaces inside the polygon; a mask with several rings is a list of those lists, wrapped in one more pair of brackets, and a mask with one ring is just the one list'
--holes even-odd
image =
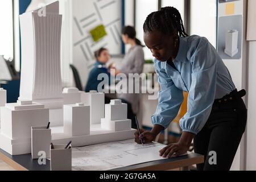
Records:
{"label": "light-blue puff-sleeved shirt on the woman leaning over the table", "polygon": [[161,90],[152,123],[167,128],[180,109],[185,91],[189,92],[188,110],[180,119],[180,127],[197,134],[207,122],[214,100],[229,94],[236,86],[228,68],[206,38],[180,37],[174,65],[177,70],[167,62],[155,60]]}

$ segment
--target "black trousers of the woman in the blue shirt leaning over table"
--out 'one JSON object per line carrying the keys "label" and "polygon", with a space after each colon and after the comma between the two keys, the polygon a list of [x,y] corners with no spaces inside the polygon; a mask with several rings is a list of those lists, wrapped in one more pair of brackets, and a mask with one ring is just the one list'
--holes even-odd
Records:
{"label": "black trousers of the woman in the blue shirt leaning over table", "polygon": [[[205,158],[197,169],[228,171],[245,131],[246,121],[247,109],[241,97],[235,99],[228,96],[214,102],[207,123],[194,138],[195,152]],[[213,163],[214,153],[211,151],[216,152],[216,164]]]}

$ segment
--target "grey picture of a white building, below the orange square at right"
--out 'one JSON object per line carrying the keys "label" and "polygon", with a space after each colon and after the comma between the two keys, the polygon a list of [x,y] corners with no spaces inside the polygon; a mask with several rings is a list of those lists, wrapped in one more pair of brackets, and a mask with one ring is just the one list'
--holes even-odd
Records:
{"label": "grey picture of a white building, below the orange square at right", "polygon": [[217,51],[221,59],[241,59],[242,15],[221,16],[218,19]]}

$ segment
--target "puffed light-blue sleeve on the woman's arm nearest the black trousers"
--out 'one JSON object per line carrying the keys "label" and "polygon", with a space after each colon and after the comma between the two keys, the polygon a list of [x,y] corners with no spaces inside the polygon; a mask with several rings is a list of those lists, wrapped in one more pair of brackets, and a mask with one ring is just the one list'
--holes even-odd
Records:
{"label": "puffed light-blue sleeve on the woman's arm nearest the black trousers", "polygon": [[181,118],[180,126],[183,131],[197,134],[207,122],[215,98],[217,52],[206,38],[200,38],[191,47],[192,83],[188,111]]}

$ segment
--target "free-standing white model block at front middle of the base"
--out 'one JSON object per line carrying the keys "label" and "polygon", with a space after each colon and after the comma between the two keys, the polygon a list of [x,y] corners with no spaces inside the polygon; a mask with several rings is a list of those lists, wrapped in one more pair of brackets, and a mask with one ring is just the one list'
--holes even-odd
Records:
{"label": "free-standing white model block at front middle of the base", "polygon": [[71,137],[90,134],[90,106],[64,105],[64,133]]}

